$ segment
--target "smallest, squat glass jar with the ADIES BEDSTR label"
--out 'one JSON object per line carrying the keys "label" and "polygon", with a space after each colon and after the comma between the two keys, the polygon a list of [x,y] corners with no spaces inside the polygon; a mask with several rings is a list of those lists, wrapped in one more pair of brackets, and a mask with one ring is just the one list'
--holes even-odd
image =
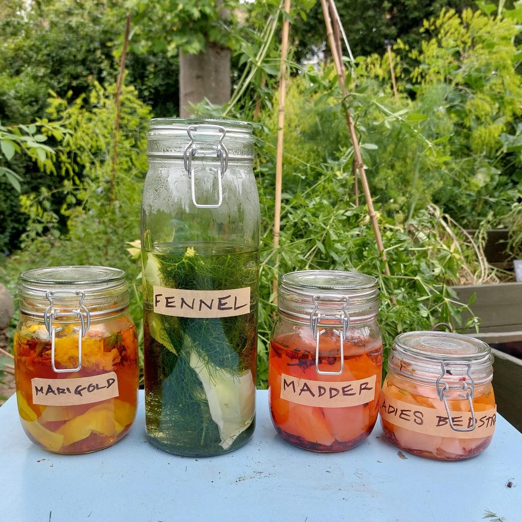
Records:
{"label": "smallest, squat glass jar with the ADIES BEDSTR label", "polygon": [[495,431],[493,356],[478,339],[435,331],[396,337],[379,413],[396,446],[423,457],[482,453]]}

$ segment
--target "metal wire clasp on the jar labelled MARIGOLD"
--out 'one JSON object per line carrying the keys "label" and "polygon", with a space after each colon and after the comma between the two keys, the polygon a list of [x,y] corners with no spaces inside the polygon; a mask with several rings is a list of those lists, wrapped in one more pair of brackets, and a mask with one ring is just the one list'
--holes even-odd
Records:
{"label": "metal wire clasp on the jar labelled MARIGOLD", "polygon": [[[89,329],[91,325],[91,316],[89,314],[89,311],[84,305],[84,299],[85,299],[85,292],[82,292],[81,290],[49,290],[49,292],[45,293],[46,298],[49,301],[49,306],[43,313],[43,322],[45,324],[45,327],[47,328],[47,331],[49,332],[49,336],[51,337],[51,365],[53,367],[53,371],[56,373],[66,373],[66,372],[77,372],[81,369],[81,338],[85,336],[85,333]],[[77,296],[79,297],[79,303],[78,308],[67,311],[67,312],[61,312],[57,308],[54,307],[53,298],[61,297],[72,297]],[[62,330],[62,327],[56,328],[53,326],[53,319],[56,319],[60,316],[65,315],[76,315],[78,319],[80,319],[80,327],[74,327],[74,330],[78,332],[78,366],[76,368],[64,368],[64,369],[57,369],[55,364],[55,341],[56,341],[56,332]]]}

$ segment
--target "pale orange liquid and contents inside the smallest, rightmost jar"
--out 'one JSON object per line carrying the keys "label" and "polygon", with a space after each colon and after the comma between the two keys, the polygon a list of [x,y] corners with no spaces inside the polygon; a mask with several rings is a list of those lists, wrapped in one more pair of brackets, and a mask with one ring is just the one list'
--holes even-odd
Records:
{"label": "pale orange liquid and contents inside the smallest, rightmost jar", "polygon": [[[413,383],[405,384],[393,374],[388,373],[383,384],[383,392],[395,399],[409,402],[412,405],[441,410],[446,415],[444,403],[438,398],[435,386],[432,389],[426,386],[416,386]],[[495,397],[491,383],[477,386],[472,399],[476,413],[493,409]],[[450,411],[469,412],[467,400],[448,400]],[[461,460],[482,453],[487,448],[493,435],[477,438],[441,437],[425,433],[418,433],[401,426],[396,426],[381,417],[381,426],[390,441],[396,446],[410,453],[438,460]]]}

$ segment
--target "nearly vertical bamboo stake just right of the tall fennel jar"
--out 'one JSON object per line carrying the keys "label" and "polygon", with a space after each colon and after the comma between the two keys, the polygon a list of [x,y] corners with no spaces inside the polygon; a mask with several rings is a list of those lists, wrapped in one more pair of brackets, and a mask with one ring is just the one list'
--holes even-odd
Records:
{"label": "nearly vertical bamboo stake just right of the tall fennel jar", "polygon": [[[276,152],[276,200],[274,209],[274,250],[279,248],[281,231],[281,191],[283,180],[283,137],[284,137],[284,102],[286,101],[288,37],[290,32],[290,0],[284,0],[283,34],[281,38],[281,70],[279,81],[279,113],[277,116],[277,152]],[[276,253],[276,276],[272,281],[274,303],[277,303],[277,269],[279,268],[279,252]]]}

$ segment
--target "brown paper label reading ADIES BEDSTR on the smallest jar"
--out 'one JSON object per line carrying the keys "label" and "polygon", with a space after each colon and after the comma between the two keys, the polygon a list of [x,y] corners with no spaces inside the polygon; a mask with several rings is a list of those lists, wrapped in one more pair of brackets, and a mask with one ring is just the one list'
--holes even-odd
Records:
{"label": "brown paper label reading ADIES BEDSTR on the smallest jar", "polygon": [[[438,400],[438,399],[437,399]],[[493,435],[496,424],[496,408],[476,411],[477,425],[472,431],[455,431],[449,425],[445,409],[426,408],[390,397],[381,392],[379,399],[381,417],[400,428],[438,437],[478,438]],[[465,429],[473,425],[468,411],[450,411],[456,428]]]}

